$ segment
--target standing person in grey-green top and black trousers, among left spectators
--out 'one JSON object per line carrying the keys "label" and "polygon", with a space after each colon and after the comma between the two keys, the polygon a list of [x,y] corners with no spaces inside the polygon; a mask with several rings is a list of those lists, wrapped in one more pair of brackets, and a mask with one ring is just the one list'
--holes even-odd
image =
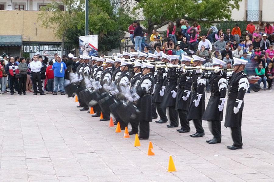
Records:
{"label": "standing person in grey-green top and black trousers, among left spectators", "polygon": [[26,79],[27,79],[27,71],[28,71],[28,66],[26,65],[26,59],[24,57],[19,58],[19,72],[21,73],[21,77],[19,78],[19,95],[22,95],[22,92],[24,95],[26,95]]}

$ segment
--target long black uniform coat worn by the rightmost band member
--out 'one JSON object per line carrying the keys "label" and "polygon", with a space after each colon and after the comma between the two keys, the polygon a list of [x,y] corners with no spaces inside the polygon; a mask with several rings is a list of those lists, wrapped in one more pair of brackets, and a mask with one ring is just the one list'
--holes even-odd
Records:
{"label": "long black uniform coat worn by the rightmost band member", "polygon": [[[231,77],[227,73],[228,90],[227,90],[227,110],[225,118],[225,127],[240,127],[242,125],[242,114],[244,108],[244,94],[248,90],[249,83],[247,75],[243,72],[233,72]],[[239,112],[234,114],[234,107],[239,108]]]}

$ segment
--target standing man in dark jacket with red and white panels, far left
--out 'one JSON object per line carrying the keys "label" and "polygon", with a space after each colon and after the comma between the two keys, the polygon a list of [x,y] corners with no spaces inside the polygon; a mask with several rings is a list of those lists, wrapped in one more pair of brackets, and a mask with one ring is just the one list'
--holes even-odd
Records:
{"label": "standing man in dark jacket with red and white panels, far left", "polygon": [[15,75],[19,73],[18,65],[14,62],[14,57],[9,57],[9,62],[5,67],[5,72],[9,75],[10,95],[13,95],[15,93],[14,89],[18,90],[18,79],[15,77]]}

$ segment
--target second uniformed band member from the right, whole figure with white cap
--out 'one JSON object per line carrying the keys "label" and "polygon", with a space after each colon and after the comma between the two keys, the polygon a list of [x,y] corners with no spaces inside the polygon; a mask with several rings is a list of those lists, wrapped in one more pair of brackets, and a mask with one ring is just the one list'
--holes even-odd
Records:
{"label": "second uniformed band member from the right, whole figure with white cap", "polygon": [[[213,59],[213,67],[216,69],[223,68],[226,62],[217,59]],[[213,139],[206,140],[209,144],[221,143],[221,121],[223,120],[223,107],[225,104],[225,97],[227,91],[227,74],[226,72],[215,70],[207,76],[209,79],[211,96],[207,103],[203,120],[207,120],[209,123],[209,131],[213,135]]]}

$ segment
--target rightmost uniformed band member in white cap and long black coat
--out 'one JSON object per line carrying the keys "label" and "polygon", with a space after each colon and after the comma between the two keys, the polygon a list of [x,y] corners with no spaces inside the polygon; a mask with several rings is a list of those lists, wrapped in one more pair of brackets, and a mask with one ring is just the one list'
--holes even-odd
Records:
{"label": "rightmost uniformed band member in white cap and long black coat", "polygon": [[227,146],[230,150],[242,149],[242,114],[244,108],[244,94],[248,91],[249,83],[247,75],[244,73],[245,65],[248,61],[234,59],[234,72],[227,73],[228,79],[228,100],[225,118],[225,127],[230,127],[233,145]]}

